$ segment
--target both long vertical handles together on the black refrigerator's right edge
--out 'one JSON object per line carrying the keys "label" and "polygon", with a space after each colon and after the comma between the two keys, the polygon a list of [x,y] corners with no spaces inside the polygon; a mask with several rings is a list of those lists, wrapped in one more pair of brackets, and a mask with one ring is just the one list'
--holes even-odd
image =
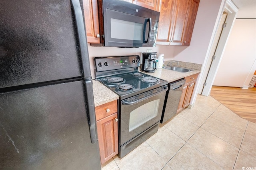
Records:
{"label": "both long vertical handles together on the black refrigerator's right edge", "polygon": [[89,61],[89,54],[87,49],[87,39],[85,35],[85,27],[84,27],[84,19],[82,14],[82,9],[80,6],[79,0],[71,0],[72,8],[74,9],[74,14],[76,18],[76,27],[78,32],[78,40],[79,46],[81,51],[82,57],[82,65],[83,65],[83,77],[84,77],[84,84],[86,86],[86,105],[89,112],[89,126],[90,126],[90,135],[91,135],[91,142],[96,143],[98,140],[96,134],[96,116],[95,116],[95,109],[94,109],[94,99],[93,99],[93,92],[92,92],[92,79],[90,74],[90,61]]}

